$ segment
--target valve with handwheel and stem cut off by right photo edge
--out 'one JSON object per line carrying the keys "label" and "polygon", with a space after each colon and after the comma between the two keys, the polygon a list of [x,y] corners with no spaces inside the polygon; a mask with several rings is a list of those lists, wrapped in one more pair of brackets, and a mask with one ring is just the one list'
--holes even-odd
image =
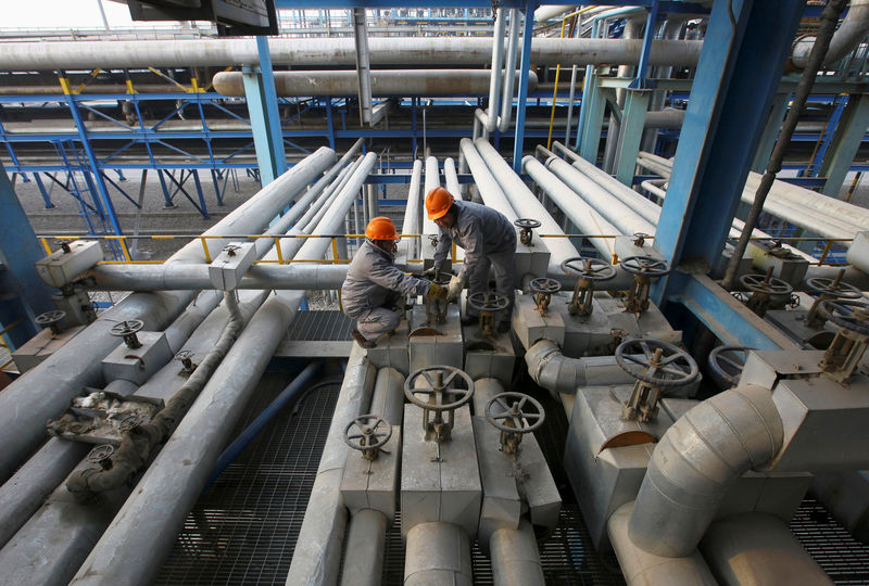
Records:
{"label": "valve with handwheel and stem cut off by right photo edge", "polygon": [[820,303],[819,310],[840,330],[818,367],[828,378],[845,382],[854,373],[869,345],[869,303],[826,300]]}

